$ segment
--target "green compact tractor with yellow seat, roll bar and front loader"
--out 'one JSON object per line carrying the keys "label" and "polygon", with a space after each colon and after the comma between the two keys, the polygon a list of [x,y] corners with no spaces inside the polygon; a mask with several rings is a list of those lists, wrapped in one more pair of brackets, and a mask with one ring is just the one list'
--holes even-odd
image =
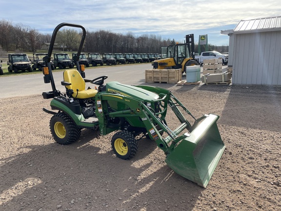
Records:
{"label": "green compact tractor with yellow seat, roll bar and front loader", "polygon": [[[61,85],[65,94],[56,89],[50,60],[58,30],[63,26],[79,27],[83,31],[77,53],[77,69],[65,69]],[[219,116],[205,114],[196,119],[169,90],[148,85],[126,85],[119,82],[104,84],[107,76],[85,79],[79,55],[85,40],[84,27],[71,23],[59,24],[52,36],[48,67],[43,68],[44,82],[52,91],[43,92],[44,99],[52,99],[51,110],[43,110],[53,117],[50,130],[56,142],[71,144],[80,137],[81,129],[99,131],[100,135],[114,132],[111,145],[121,159],[133,158],[138,150],[137,137],[151,139],[166,155],[166,164],[181,176],[206,187],[221,155],[224,144],[218,130]],[[85,89],[85,84],[98,88]],[[170,128],[166,115],[174,114],[179,124]],[[185,116],[194,119],[194,124]]]}

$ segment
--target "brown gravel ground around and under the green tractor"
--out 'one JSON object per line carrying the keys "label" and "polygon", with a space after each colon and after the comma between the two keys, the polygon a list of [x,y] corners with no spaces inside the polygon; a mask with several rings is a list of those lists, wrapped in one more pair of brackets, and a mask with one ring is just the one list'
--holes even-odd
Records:
{"label": "brown gravel ground around and under the green tractor", "polygon": [[281,87],[159,86],[196,117],[221,116],[226,149],[207,188],[172,171],[145,138],[131,160],[114,155],[113,133],[98,139],[84,129],[78,142],[61,146],[42,111],[50,100],[23,96],[0,99],[0,210],[280,211]]}

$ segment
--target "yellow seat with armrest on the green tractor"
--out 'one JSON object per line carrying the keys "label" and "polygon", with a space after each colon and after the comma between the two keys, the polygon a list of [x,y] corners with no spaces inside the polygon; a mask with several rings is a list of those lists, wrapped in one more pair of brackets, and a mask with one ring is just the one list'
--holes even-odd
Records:
{"label": "yellow seat with armrest on the green tractor", "polygon": [[[85,89],[85,81],[76,69],[67,69],[63,72],[63,80],[70,85],[65,85],[66,89],[72,89],[74,98],[87,99],[95,97],[98,93],[96,89]],[[77,94],[78,89],[78,94]]]}

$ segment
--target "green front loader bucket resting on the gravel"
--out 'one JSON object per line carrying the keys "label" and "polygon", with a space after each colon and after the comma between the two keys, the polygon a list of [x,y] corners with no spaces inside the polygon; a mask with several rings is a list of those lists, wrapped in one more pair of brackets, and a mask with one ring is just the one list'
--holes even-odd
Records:
{"label": "green front loader bucket resting on the gravel", "polygon": [[217,126],[218,119],[219,116],[209,114],[165,159],[175,172],[204,188],[225,148]]}

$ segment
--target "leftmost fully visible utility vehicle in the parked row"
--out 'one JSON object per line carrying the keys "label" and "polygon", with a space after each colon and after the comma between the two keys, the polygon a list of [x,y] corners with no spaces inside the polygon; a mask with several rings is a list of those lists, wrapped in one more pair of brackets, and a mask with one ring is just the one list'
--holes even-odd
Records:
{"label": "leftmost fully visible utility vehicle in the parked row", "polygon": [[28,59],[26,54],[22,53],[15,53],[15,54],[8,54],[8,71],[17,73],[19,70],[24,72],[28,70],[28,72],[32,72],[31,61]]}

